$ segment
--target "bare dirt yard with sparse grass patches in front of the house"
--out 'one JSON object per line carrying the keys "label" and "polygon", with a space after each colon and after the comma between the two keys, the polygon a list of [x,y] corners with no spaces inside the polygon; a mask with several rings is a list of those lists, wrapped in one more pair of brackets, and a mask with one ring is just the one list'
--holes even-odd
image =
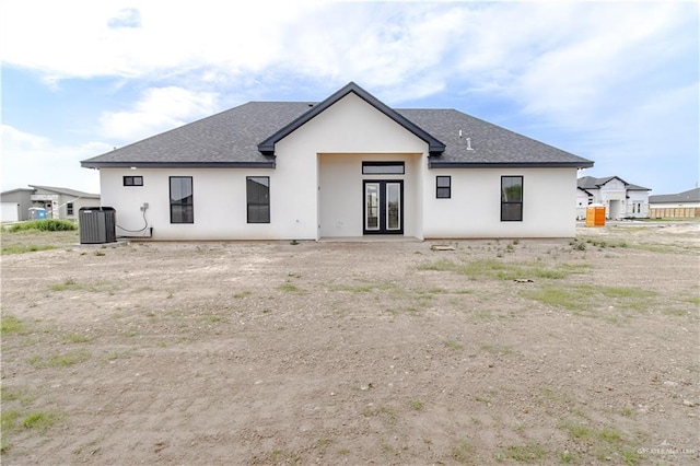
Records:
{"label": "bare dirt yard with sparse grass patches in front of the house", "polygon": [[4,233],[2,464],[698,464],[699,233]]}

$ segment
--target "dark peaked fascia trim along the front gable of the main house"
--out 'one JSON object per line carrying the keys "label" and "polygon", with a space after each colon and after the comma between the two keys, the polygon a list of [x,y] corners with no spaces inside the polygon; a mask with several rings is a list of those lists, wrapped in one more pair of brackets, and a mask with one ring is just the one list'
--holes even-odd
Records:
{"label": "dark peaked fascia trim along the front gable of the main house", "polygon": [[278,130],[276,133],[264,140],[258,144],[258,150],[264,154],[275,154],[275,144],[279,142],[284,137],[289,136],[296,129],[301,128],[304,124],[310,121],[312,118],[318,116],[320,113],[326,110],[331,105],[336,104],[346,95],[353,93],[358,97],[365,101],[368,104],[372,105],[377,110],[382,112],[387,117],[392,118],[394,121],[412,132],[418,138],[422,139],[428,143],[428,151],[433,153],[442,153],[445,150],[445,144],[440,142],[438,139],[429,135],[427,131],[411,123],[409,119],[400,115],[398,112],[388,107],[386,104],[381,102],[378,98],[374,97],[372,94],[360,88],[354,82],[350,82],[342,89],[336,91],[332,95],[330,95],[325,101],[319,104],[314,105],[308,112],[301,115],[299,118],[294,119],[292,123],[287,125],[285,127]]}

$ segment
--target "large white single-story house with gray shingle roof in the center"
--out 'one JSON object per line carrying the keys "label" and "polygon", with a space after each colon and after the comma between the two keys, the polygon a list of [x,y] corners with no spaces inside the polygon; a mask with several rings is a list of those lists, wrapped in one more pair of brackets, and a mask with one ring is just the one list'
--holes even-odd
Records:
{"label": "large white single-story house with gray shingle roof in the center", "polygon": [[571,237],[576,173],[593,166],[454,109],[389,108],[352,82],[81,164],[100,170],[117,235],[156,240]]}

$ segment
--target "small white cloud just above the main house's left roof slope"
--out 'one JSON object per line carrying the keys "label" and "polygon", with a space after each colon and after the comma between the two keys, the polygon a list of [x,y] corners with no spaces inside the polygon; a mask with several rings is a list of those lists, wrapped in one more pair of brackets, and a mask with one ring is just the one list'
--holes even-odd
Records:
{"label": "small white cloud just above the main house's left roof slope", "polygon": [[149,89],[133,108],[105,113],[100,118],[101,133],[110,139],[132,142],[173,129],[215,110],[217,94],[191,92],[182,88]]}

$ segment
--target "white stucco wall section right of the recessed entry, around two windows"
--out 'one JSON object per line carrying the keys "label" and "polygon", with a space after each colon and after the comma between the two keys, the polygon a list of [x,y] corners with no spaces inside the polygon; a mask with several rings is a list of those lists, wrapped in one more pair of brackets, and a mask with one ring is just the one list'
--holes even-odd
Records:
{"label": "white stucco wall section right of the recessed entry, around two windows", "polygon": [[[435,198],[435,177],[452,176],[452,198]],[[523,176],[523,221],[501,221],[501,176]],[[430,170],[424,179],[424,236],[573,237],[575,168]]]}

